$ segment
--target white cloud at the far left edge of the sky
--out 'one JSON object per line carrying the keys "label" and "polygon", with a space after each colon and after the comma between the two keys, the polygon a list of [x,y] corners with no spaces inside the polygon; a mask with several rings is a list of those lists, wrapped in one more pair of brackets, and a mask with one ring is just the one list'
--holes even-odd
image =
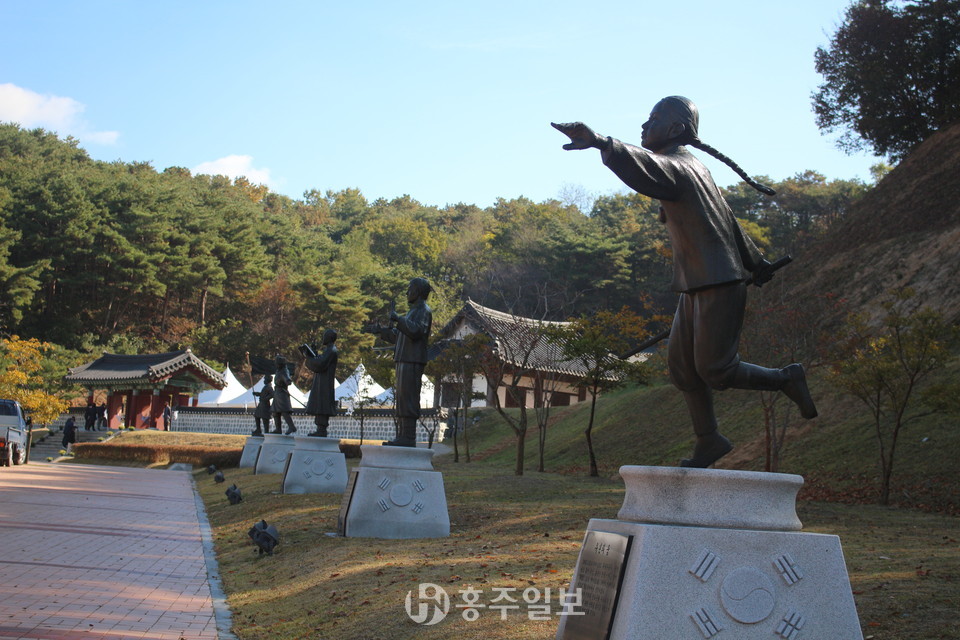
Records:
{"label": "white cloud at the far left edge of the sky", "polygon": [[73,98],[41,95],[9,82],[0,84],[0,122],[17,122],[27,129],[43,127],[92,144],[116,144],[120,134],[93,131],[81,117],[85,108]]}

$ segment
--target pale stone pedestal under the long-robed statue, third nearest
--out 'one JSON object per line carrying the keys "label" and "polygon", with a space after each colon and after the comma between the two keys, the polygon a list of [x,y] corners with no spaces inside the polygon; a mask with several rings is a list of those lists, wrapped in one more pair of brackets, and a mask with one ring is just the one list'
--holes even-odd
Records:
{"label": "pale stone pedestal under the long-robed statue, third nearest", "polygon": [[283,470],[284,493],[343,493],[347,461],[340,438],[293,436],[296,445]]}

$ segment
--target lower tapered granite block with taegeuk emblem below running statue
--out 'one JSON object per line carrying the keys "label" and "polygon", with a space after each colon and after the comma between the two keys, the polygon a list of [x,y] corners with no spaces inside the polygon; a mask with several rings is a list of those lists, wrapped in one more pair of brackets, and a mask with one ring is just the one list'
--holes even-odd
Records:
{"label": "lower tapered granite block with taegeuk emblem below running statue", "polygon": [[[610,640],[863,638],[837,536],[598,519],[587,531],[632,536]],[[577,617],[558,640],[606,637],[568,633]]]}

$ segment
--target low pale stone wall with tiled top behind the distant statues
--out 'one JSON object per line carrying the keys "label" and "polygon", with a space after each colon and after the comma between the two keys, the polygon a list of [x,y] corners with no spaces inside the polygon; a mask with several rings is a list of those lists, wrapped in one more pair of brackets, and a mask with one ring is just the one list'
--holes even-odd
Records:
{"label": "low pale stone wall with tiled top behind the distant statues", "polygon": [[[433,441],[442,442],[447,431],[445,412],[437,409],[422,409],[420,424],[417,425],[417,440],[429,440],[429,429],[435,429]],[[316,430],[313,416],[303,411],[291,413],[298,435],[307,435]],[[390,409],[367,409],[363,412],[364,440],[392,440],[396,436],[393,411]],[[286,431],[286,424],[281,423]],[[197,433],[226,433],[232,435],[250,435],[256,428],[253,409],[178,407],[173,412],[171,431],[191,431]],[[271,427],[272,428],[272,427]],[[428,429],[429,428],[429,429]],[[340,414],[331,416],[327,435],[331,438],[360,439],[360,414]]]}

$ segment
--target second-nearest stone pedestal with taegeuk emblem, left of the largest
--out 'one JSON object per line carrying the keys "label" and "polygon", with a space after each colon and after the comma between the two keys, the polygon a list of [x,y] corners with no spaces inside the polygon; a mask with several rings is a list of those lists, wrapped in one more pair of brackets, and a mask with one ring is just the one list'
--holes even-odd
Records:
{"label": "second-nearest stone pedestal with taegeuk emblem, left of the largest", "polygon": [[445,538],[450,535],[443,475],[433,451],[363,445],[340,504],[337,532],[349,538]]}

